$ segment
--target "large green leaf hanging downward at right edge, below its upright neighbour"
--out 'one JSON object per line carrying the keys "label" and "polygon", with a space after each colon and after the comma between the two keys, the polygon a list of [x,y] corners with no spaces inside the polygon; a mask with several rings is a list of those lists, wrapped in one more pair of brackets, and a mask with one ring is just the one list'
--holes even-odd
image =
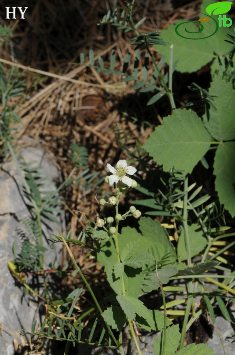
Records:
{"label": "large green leaf hanging downward at right edge, below its upright neighbour", "polygon": [[220,203],[235,216],[235,142],[219,144],[214,158],[216,191]]}

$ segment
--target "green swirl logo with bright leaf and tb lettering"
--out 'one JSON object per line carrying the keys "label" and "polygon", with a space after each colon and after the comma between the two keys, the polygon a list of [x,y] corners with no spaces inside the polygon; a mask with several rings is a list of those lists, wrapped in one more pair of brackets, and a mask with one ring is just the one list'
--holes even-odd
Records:
{"label": "green swirl logo with bright leaf and tb lettering", "polygon": [[[231,5],[232,4],[233,4],[233,2],[220,1],[220,2],[216,2],[216,3],[211,4],[211,5],[206,7],[206,12],[207,13],[203,13],[203,15],[206,15],[206,17],[202,17],[198,21],[200,21],[200,22],[208,22],[208,21],[211,21],[211,20],[214,21],[215,29],[214,29],[214,32],[212,34],[206,35],[205,37],[192,38],[192,37],[188,37],[187,35],[182,35],[182,34],[179,33],[178,28],[180,26],[185,25],[186,23],[195,23],[195,24],[200,26],[200,29],[198,31],[189,31],[187,29],[187,27],[185,27],[184,31],[186,33],[189,33],[189,34],[192,34],[192,35],[198,34],[198,33],[202,33],[202,31],[204,30],[204,26],[203,26],[202,23],[199,23],[199,22],[196,22],[196,21],[185,21],[185,22],[179,23],[176,26],[176,28],[175,28],[176,34],[178,34],[178,36],[180,36],[182,38],[185,38],[185,39],[195,39],[195,40],[196,39],[205,39],[205,38],[213,36],[218,31],[219,27],[222,26],[222,23],[223,23],[224,27],[231,26],[231,24],[232,24],[231,18],[226,17],[225,15],[222,18],[221,14],[227,13],[231,9]],[[209,17],[208,17],[207,14],[209,15]],[[210,15],[219,15],[219,17],[218,17],[219,23]],[[229,23],[227,23],[227,21],[229,21]]]}

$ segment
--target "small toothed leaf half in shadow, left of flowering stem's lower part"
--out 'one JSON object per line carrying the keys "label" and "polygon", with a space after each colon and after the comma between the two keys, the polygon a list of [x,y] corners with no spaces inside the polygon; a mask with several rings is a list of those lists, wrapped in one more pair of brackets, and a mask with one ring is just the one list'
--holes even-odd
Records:
{"label": "small toothed leaf half in shadow, left of flowering stem's lower part", "polygon": [[112,327],[113,329],[117,329],[118,331],[121,331],[122,327],[127,322],[124,311],[117,306],[111,306],[107,308],[102,316],[108,326]]}

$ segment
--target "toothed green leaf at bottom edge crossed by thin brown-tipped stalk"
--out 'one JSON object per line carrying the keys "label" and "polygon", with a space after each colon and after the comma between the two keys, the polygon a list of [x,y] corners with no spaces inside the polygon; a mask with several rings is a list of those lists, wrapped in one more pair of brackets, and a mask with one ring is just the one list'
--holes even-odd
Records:
{"label": "toothed green leaf at bottom edge crossed by thin brown-tipped stalk", "polygon": [[[168,327],[166,329],[166,348],[165,355],[173,355],[176,349],[179,346],[179,326],[178,324],[175,326]],[[163,332],[161,333],[160,338],[156,338],[153,344],[154,355],[159,355],[162,353],[161,344],[163,344]],[[178,354],[178,353],[177,353]]]}

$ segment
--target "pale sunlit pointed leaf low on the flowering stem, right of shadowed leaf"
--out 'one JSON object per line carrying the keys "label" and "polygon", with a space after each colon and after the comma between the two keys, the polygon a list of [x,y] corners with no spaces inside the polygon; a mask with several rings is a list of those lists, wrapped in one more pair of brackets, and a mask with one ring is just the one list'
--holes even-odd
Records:
{"label": "pale sunlit pointed leaf low on the flowering stem, right of shadowed leaf", "polygon": [[126,316],[131,320],[136,319],[136,313],[138,316],[143,317],[153,329],[155,327],[155,323],[152,315],[148,312],[148,308],[146,308],[140,300],[131,296],[117,296],[117,302],[120,304],[122,310],[125,312]]}

